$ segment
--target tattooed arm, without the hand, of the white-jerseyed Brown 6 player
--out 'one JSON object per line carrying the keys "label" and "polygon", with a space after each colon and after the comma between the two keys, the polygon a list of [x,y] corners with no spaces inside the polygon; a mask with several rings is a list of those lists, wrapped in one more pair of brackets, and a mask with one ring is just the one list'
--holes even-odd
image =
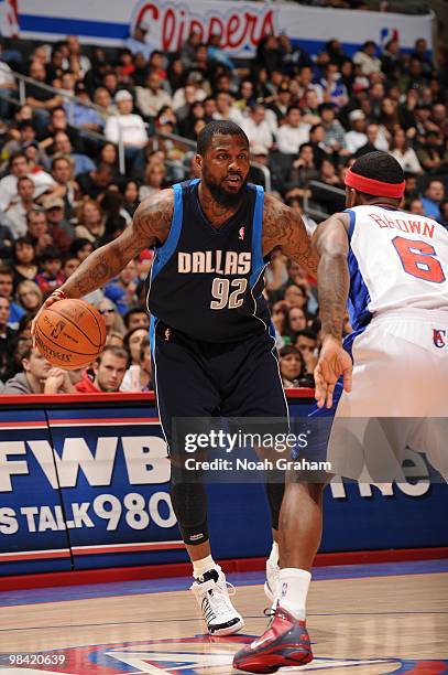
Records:
{"label": "tattooed arm, without the hand, of the white-jerseyed Brown 6 player", "polygon": [[350,275],[348,227],[350,218],[337,213],[317,226],[313,243],[319,254],[317,290],[323,338],[342,339],[343,315],[349,294]]}

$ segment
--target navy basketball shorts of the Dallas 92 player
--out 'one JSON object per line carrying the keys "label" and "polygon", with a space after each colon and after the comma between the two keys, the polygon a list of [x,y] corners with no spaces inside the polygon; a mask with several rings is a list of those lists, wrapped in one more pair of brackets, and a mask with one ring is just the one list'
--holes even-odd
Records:
{"label": "navy basketball shorts of the Dallas 92 player", "polygon": [[287,403],[275,342],[267,331],[211,343],[157,321],[152,355],[159,414],[172,458],[184,452],[173,436],[178,418],[280,418],[278,428],[287,432]]}

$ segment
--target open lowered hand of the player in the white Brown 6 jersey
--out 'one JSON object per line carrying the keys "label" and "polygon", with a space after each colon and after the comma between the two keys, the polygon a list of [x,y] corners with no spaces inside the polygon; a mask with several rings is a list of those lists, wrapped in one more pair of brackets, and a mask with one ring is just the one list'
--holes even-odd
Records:
{"label": "open lowered hand of the player in the white Brown 6 jersey", "polygon": [[343,390],[347,394],[351,392],[352,371],[352,361],[339,340],[326,338],[314,372],[315,398],[319,408],[325,405],[327,408],[331,408],[335,385],[341,375],[343,377]]}

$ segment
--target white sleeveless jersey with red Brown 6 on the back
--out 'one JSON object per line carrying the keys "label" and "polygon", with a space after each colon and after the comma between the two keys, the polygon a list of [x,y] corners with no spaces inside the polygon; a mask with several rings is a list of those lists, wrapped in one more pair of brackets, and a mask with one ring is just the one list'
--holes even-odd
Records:
{"label": "white sleeveless jersey with red Brown 6 on the back", "polygon": [[448,232],[436,221],[387,206],[350,214],[349,313],[353,330],[400,308],[448,311]]}

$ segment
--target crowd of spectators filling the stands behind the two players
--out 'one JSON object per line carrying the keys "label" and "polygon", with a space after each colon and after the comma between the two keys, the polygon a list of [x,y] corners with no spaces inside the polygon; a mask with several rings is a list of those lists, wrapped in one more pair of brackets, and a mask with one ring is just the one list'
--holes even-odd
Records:
{"label": "crowd of spectators filling the stands behind the two players", "polygon": [[[117,52],[81,47],[76,36],[34,45],[28,57],[10,45],[0,52],[3,394],[152,388],[144,307],[151,250],[86,297],[108,331],[108,349],[91,368],[51,367],[30,343],[30,323],[94,248],[129,225],[142,199],[197,176],[194,141],[209,120],[244,129],[250,180],[265,185],[266,167],[271,190],[303,215],[309,234],[345,207],[341,190],[327,188],[342,189],[347,169],[374,149],[402,164],[405,207],[448,227],[448,68],[435,65],[425,40],[411,52],[394,38],[383,46],[367,42],[350,57],[336,39],[312,56],[284,34],[266,35],[254,60],[237,62],[218,35],[204,44],[192,33],[178,53],[164,54],[145,33],[138,26]],[[35,81],[26,82],[23,105],[11,100],[13,71]],[[285,386],[313,385],[315,280],[275,251],[266,294]]]}

